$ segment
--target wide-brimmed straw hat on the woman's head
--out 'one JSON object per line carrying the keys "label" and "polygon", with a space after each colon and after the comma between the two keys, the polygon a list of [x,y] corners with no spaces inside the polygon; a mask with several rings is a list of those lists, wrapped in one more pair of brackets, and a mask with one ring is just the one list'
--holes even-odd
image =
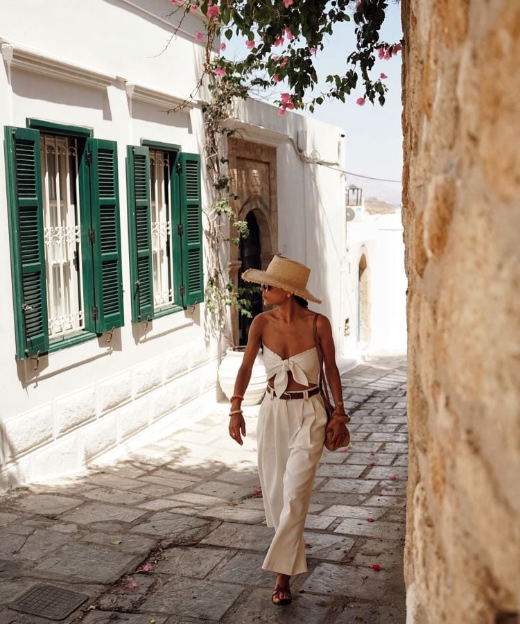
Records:
{"label": "wide-brimmed straw hat on the woman's head", "polygon": [[270,261],[267,270],[248,269],[242,273],[242,279],[252,281],[254,284],[277,286],[307,301],[321,303],[321,300],[311,295],[306,288],[310,274],[311,269],[308,266],[277,254]]}

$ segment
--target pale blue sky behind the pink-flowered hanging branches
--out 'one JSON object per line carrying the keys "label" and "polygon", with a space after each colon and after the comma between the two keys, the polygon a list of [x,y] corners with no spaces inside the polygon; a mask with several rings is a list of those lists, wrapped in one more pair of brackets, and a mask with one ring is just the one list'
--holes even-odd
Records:
{"label": "pale blue sky behind the pink-flowered hanging branches", "polygon": [[[383,24],[381,39],[390,43],[401,39],[401,6],[390,3],[387,17]],[[329,73],[343,73],[345,59],[354,51],[356,38],[354,21],[338,24],[332,37],[329,37],[324,51],[318,53],[316,70],[320,83],[318,87],[327,89],[324,78]],[[227,58],[242,58],[245,55],[243,40],[236,38],[227,44]],[[316,107],[311,115],[315,119],[339,125],[345,130],[346,169],[371,177],[390,180],[401,179],[402,166],[402,135],[401,135],[401,54],[390,60],[377,60],[374,76],[384,71],[389,91],[383,107],[379,104],[366,103],[358,106],[356,99],[363,95],[352,94],[345,104],[340,101],[326,101]],[[281,85],[280,89],[266,94],[272,101],[277,93],[288,90]],[[392,204],[401,202],[401,184],[395,182],[378,182],[354,175],[348,175],[347,184],[356,184],[363,188],[365,198],[375,196]]]}

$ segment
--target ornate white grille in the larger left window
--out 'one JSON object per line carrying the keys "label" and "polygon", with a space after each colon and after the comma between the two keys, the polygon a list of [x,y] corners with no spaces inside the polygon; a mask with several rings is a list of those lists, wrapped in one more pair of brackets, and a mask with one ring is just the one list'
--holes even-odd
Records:
{"label": "ornate white grille in the larger left window", "polygon": [[49,338],[57,338],[84,327],[76,139],[42,135],[40,154]]}

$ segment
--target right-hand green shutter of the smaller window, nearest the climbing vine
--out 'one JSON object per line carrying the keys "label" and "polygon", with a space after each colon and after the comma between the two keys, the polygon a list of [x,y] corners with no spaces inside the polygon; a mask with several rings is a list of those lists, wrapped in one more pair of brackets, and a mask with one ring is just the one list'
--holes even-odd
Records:
{"label": "right-hand green shutter of the smaller window, nearest the climbing vine", "polygon": [[204,300],[200,156],[181,153],[180,166],[183,298],[184,306],[191,306]]}

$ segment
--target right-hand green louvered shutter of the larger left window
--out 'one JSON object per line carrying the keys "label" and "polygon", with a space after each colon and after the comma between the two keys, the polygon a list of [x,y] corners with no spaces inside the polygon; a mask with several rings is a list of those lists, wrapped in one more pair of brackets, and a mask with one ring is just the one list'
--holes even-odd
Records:
{"label": "right-hand green louvered shutter of the larger left window", "polygon": [[[91,156],[88,156],[88,155]],[[121,232],[117,146],[115,141],[87,139],[92,207],[94,310],[87,311],[96,333],[123,325]]]}

